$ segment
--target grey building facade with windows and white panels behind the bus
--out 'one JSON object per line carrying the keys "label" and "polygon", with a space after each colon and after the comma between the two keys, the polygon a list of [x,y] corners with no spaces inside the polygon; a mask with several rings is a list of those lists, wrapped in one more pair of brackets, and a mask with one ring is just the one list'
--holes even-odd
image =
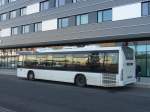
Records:
{"label": "grey building facade with windows and white panels behind the bus", "polygon": [[150,77],[149,0],[0,0],[0,68],[17,51],[43,47],[128,45]]}

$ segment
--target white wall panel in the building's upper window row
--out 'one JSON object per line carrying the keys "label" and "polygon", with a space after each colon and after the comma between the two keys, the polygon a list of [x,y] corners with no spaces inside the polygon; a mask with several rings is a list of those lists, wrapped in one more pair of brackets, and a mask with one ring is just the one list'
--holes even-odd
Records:
{"label": "white wall panel in the building's upper window row", "polygon": [[35,3],[27,6],[27,15],[37,13],[40,11],[40,3]]}

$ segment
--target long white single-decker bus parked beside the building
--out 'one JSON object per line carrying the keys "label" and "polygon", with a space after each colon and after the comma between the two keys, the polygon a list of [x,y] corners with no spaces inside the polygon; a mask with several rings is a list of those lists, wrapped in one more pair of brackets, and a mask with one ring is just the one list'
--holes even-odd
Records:
{"label": "long white single-decker bus parked beside the building", "polygon": [[119,87],[135,83],[135,56],[129,47],[83,47],[45,52],[19,52],[17,76]]}

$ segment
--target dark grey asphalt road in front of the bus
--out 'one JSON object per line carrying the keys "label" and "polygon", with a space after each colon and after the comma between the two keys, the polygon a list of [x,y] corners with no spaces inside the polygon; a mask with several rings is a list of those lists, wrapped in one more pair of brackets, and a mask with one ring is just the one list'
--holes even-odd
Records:
{"label": "dark grey asphalt road in front of the bus", "polygon": [[0,112],[150,112],[150,89],[81,88],[0,75]]}

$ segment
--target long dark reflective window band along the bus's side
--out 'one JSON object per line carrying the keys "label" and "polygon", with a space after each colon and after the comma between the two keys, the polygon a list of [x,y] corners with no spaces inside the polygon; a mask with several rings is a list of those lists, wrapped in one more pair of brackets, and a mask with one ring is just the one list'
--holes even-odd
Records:
{"label": "long dark reflective window band along the bus's side", "polygon": [[117,52],[27,55],[25,67],[68,71],[118,73]]}

